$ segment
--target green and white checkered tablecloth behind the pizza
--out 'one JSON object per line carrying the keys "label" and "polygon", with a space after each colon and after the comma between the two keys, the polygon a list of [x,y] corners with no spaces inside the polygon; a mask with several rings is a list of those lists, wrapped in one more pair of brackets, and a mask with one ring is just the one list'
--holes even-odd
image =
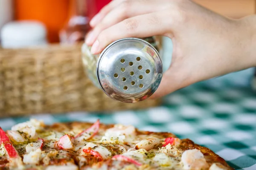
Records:
{"label": "green and white checkered tablecloth behind the pizza", "polygon": [[[209,147],[236,170],[256,170],[256,93],[249,85],[251,75],[249,69],[191,85],[166,96],[157,108],[30,117],[46,124],[100,119],[141,130],[168,131]],[[0,119],[0,126],[7,130],[30,117]]]}

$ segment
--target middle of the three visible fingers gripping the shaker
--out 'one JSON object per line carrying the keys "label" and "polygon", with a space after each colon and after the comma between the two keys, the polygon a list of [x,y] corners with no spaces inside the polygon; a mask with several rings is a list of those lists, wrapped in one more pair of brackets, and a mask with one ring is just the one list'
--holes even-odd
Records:
{"label": "middle of the three visible fingers gripping the shaker", "polygon": [[[92,45],[101,31],[115,25],[116,23],[121,22],[122,20],[157,11],[158,9],[156,6],[158,5],[159,3],[157,3],[155,0],[152,2],[150,0],[129,0],[122,2],[118,7],[114,8],[108,14],[106,14],[101,22],[96,25],[96,27],[93,29],[93,32],[87,36],[86,44],[89,46]],[[143,6],[143,8],[141,8],[141,6]]]}

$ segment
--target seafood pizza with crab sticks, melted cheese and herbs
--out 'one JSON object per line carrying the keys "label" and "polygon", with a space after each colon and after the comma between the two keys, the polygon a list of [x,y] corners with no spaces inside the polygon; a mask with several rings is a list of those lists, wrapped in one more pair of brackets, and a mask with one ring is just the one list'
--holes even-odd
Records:
{"label": "seafood pizza with crab sticks, melted cheese and herbs", "polygon": [[0,170],[233,170],[212,150],[134,126],[30,119],[0,128]]}

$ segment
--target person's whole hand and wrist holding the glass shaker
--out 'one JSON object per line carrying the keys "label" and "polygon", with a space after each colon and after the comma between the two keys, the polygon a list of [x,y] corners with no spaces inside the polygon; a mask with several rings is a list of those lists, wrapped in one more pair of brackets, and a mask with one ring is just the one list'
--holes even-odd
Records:
{"label": "person's whole hand and wrist holding the glass shaker", "polygon": [[250,46],[256,42],[255,16],[231,20],[190,0],[113,0],[90,25],[93,31],[86,43],[93,54],[125,37],[172,39],[172,64],[152,97],[256,66],[255,48]]}

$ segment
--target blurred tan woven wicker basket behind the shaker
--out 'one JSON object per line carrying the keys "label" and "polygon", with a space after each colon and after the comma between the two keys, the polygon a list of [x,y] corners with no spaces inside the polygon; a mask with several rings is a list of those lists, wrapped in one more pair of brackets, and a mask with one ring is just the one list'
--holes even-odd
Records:
{"label": "blurred tan woven wicker basket behind the shaker", "polygon": [[117,111],[160,104],[114,101],[84,74],[81,45],[0,49],[0,117],[68,111]]}

